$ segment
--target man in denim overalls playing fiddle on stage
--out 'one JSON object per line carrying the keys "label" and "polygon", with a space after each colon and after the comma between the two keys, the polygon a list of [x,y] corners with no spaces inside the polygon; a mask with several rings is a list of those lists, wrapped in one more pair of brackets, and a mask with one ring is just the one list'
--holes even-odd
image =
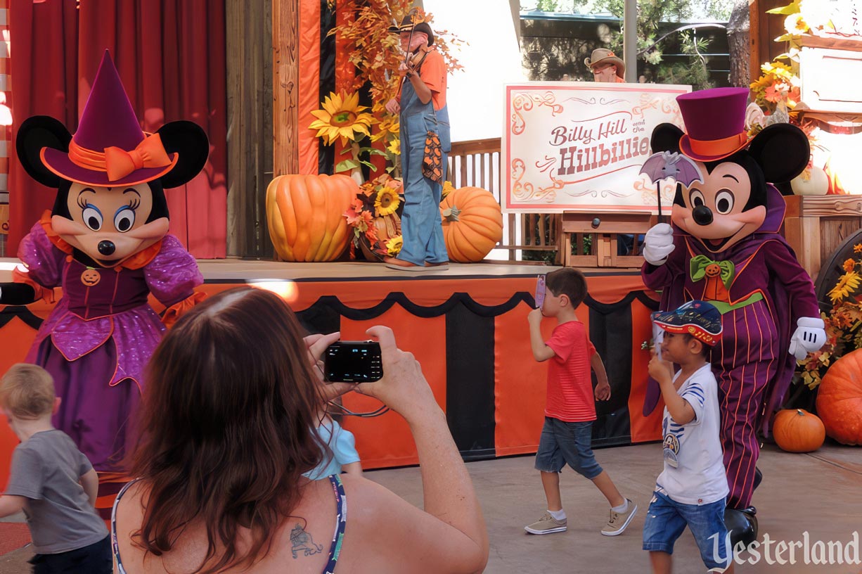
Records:
{"label": "man in denim overalls playing fiddle on stage", "polygon": [[[397,97],[386,103],[390,114],[399,115],[401,173],[404,182],[404,211],[401,216],[403,247],[397,257],[386,257],[387,267],[403,271],[426,271],[447,267],[449,256],[443,241],[440,197],[446,178],[447,153],[452,149],[449,113],[446,106],[447,69],[434,48],[434,32],[428,22],[415,16],[404,18],[401,26],[390,28],[401,37],[407,57],[398,67],[403,77]],[[437,178],[422,170],[426,140],[437,134]]]}

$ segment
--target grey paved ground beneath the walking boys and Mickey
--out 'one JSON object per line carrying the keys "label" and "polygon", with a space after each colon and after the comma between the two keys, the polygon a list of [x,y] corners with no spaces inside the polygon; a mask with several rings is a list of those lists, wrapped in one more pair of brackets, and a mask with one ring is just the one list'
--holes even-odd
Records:
{"label": "grey paved ground beneath the walking boys and Mickey", "polygon": [[[572,471],[565,471],[561,489],[569,530],[565,533],[534,536],[523,527],[545,509],[538,473],[531,457],[515,457],[475,462],[467,465],[484,508],[490,533],[490,574],[555,574],[568,572],[647,572],[649,558],[640,549],[644,512],[654,479],[661,470],[659,444],[597,450],[597,459],[609,471],[624,496],[639,505],[628,531],[615,538],[599,533],[608,518],[607,504],[598,490]],[[853,533],[862,537],[862,448],[828,445],[813,454],[790,454],[766,446],[760,469],[764,481],[754,503],[758,508],[760,540],[771,540],[769,558],[737,566],[737,572],[797,572],[815,574],[862,573],[862,540],[858,565],[804,564],[803,552],[795,549],[796,564],[775,563],[778,541],[803,542],[808,533],[809,548],[829,541],[846,546]],[[409,502],[422,504],[422,483],[417,468],[370,471],[367,477],[384,484]],[[349,527],[349,526],[348,526]],[[835,547],[835,546],[833,546]],[[851,546],[852,548],[853,546]],[[761,552],[764,554],[764,552]],[[27,548],[0,557],[0,574],[27,572]],[[816,557],[816,554],[812,554]],[[674,553],[674,571],[680,574],[703,572],[694,540],[684,533]],[[781,558],[790,560],[790,551]],[[828,553],[826,554],[828,558]],[[837,562],[837,557],[834,557]],[[809,562],[813,558],[809,558]],[[429,573],[433,574],[433,573]]]}

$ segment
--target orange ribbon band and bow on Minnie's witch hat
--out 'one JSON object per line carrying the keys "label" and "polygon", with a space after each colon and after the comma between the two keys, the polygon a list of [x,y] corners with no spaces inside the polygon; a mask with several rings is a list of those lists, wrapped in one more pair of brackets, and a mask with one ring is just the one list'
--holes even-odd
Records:
{"label": "orange ribbon band and bow on Minnie's witch hat", "polygon": [[69,142],[69,160],[78,167],[108,174],[109,181],[117,181],[143,167],[165,167],[171,159],[162,145],[159,134],[145,134],[144,139],[133,150],[106,147],[104,152],[78,146]]}

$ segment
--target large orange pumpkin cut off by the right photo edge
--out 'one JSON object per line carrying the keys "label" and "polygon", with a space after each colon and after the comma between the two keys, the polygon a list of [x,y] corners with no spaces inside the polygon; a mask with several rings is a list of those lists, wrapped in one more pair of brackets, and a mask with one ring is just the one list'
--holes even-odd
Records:
{"label": "large orange pumpkin cut off by the right photo edge", "polygon": [[823,375],[817,415],[834,440],[862,445],[862,349],[847,353]]}

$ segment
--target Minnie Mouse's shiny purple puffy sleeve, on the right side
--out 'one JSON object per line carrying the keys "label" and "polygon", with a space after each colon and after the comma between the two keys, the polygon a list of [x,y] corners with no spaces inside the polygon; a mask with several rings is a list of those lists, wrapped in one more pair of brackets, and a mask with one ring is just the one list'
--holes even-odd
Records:
{"label": "Minnie Mouse's shiny purple puffy sleeve, on the right side", "polygon": [[203,275],[195,258],[173,235],[162,240],[159,254],[144,267],[147,286],[159,303],[171,307],[194,294],[203,284]]}

